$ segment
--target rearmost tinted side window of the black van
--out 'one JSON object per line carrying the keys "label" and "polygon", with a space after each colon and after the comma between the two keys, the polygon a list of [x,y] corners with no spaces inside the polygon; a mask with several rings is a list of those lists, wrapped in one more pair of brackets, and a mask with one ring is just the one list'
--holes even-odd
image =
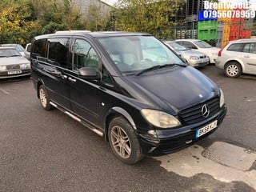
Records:
{"label": "rearmost tinted side window of the black van", "polygon": [[31,58],[46,57],[46,39],[39,39],[31,47]]}

